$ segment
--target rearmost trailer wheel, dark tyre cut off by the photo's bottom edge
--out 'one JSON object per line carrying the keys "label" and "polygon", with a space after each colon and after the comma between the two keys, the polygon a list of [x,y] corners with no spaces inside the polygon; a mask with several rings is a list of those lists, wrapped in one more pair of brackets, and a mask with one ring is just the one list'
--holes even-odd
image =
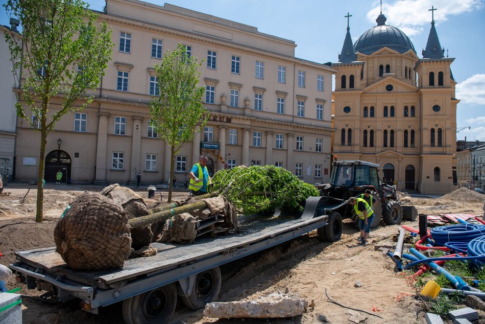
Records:
{"label": "rearmost trailer wheel, dark tyre cut off by the photo's bottom edge", "polygon": [[127,324],[166,323],[177,304],[175,283],[123,300],[123,318]]}

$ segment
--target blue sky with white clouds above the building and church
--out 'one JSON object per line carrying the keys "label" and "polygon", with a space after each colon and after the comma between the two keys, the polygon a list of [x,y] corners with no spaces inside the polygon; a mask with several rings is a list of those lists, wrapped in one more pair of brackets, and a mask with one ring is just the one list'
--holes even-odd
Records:
{"label": "blue sky with white clouds above the building and church", "polygon": [[[85,0],[86,1],[86,0]],[[0,0],[2,4],[6,0]],[[146,2],[163,6],[165,1]],[[101,11],[103,0],[89,0]],[[294,40],[296,57],[314,62],[337,62],[349,12],[353,41],[376,25],[380,2],[372,0],[171,0],[169,4],[257,27],[262,33]],[[426,47],[434,6],[435,27],[451,65],[456,98],[457,140],[485,141],[485,0],[382,0],[386,24],[401,29],[413,41],[418,57]],[[5,11],[0,24],[9,25]]]}

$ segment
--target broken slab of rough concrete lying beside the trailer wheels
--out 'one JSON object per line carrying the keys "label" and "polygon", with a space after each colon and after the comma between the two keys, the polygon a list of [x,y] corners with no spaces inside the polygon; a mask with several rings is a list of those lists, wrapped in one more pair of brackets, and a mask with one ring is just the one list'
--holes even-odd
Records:
{"label": "broken slab of rough concrete lying beside the trailer wheels", "polygon": [[255,300],[209,303],[204,316],[213,318],[285,318],[300,316],[308,302],[299,295],[273,293]]}

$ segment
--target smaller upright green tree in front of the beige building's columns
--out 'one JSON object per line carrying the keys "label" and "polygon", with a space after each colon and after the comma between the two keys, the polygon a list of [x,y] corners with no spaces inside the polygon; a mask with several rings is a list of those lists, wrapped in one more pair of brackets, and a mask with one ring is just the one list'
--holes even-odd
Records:
{"label": "smaller upright green tree in front of the beige building's columns", "polygon": [[204,128],[209,113],[202,105],[204,87],[199,86],[197,58],[187,56],[184,45],[165,53],[163,62],[155,65],[160,96],[150,103],[152,126],[170,149],[168,202],[172,201],[175,155]]}

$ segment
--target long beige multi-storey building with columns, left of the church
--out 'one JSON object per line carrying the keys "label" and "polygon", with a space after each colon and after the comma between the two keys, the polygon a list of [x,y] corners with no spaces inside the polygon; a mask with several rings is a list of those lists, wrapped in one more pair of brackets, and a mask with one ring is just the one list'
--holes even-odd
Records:
{"label": "long beige multi-storey building with columns, left of the church", "polygon": [[[59,169],[75,183],[129,184],[138,172],[142,184],[168,181],[168,150],[149,127],[148,103],[158,91],[154,64],[178,43],[204,59],[200,85],[210,120],[177,154],[177,182],[201,154],[212,172],[277,165],[306,182],[328,181],[334,68],[296,58],[294,41],[168,4],[107,0],[100,20],[113,30],[112,61],[93,103],[62,117],[48,135],[47,182]],[[25,121],[17,127],[15,179],[34,180],[40,136]]]}

